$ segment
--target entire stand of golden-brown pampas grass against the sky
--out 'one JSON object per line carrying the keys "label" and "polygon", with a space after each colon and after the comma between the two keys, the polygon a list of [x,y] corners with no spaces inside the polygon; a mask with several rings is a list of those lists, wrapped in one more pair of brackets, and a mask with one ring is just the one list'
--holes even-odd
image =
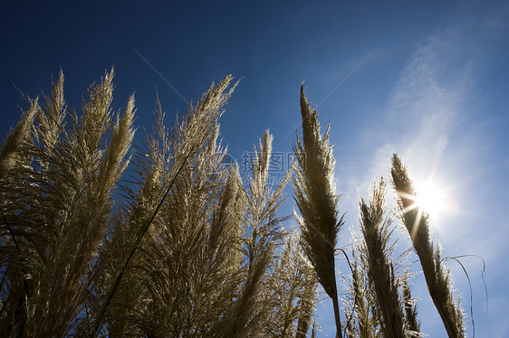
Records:
{"label": "entire stand of golden-brown pampas grass against the sky", "polygon": [[[0,149],[1,336],[314,337],[318,284],[332,299],[337,336],[342,327],[349,337],[420,336],[408,273],[392,258],[382,182],[370,202],[360,199],[363,238],[352,232],[341,323],[334,264],[343,219],[330,128],[321,134],[303,88],[297,162],[271,183],[268,131],[251,175],[224,163],[219,118],[231,76],[172,127],[157,96],[155,125],[139,146],[148,156],[130,152],[135,99],[112,108],[113,76],[93,83],[76,112],[60,71],[50,96],[24,96],[28,108]],[[299,227],[289,230],[280,207],[292,174]],[[399,192],[413,193],[397,156],[392,174]],[[462,336],[448,270],[405,193],[402,220],[431,296],[447,332]]]}

